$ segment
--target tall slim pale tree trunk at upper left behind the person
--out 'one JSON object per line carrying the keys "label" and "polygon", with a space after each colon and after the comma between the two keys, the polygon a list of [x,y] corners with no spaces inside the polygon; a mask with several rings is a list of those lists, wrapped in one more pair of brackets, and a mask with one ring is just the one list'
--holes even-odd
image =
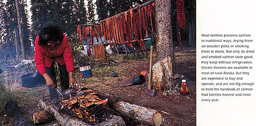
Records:
{"label": "tall slim pale tree trunk at upper left behind the person", "polygon": [[25,52],[24,52],[24,44],[23,44],[23,36],[22,36],[22,29],[21,29],[21,22],[20,22],[20,10],[18,6],[18,0],[15,0],[16,4],[16,11],[17,11],[17,19],[18,19],[18,27],[20,32],[20,45],[21,45],[21,53],[22,53],[22,59],[25,59]]}

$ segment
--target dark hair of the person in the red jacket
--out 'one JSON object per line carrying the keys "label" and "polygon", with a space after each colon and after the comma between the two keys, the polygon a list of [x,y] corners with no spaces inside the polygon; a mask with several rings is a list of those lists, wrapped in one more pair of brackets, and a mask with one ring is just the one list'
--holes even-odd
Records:
{"label": "dark hair of the person in the red jacket", "polygon": [[46,46],[48,41],[62,42],[64,37],[61,28],[56,25],[49,25],[42,28],[38,36],[38,45],[40,46]]}

